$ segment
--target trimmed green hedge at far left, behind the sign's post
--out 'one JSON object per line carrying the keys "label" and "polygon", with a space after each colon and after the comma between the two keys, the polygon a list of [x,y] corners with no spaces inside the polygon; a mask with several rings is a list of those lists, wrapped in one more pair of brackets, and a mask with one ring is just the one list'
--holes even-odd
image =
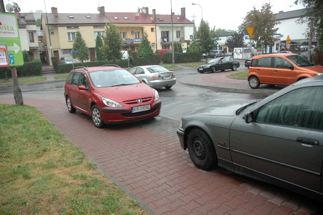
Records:
{"label": "trimmed green hedge at far left, behind the sign's post", "polygon": [[[35,59],[32,62],[25,62],[23,66],[16,67],[16,69],[17,69],[18,77],[41,75],[41,72],[42,72],[41,61],[39,59]],[[6,74],[7,74],[7,78],[12,78],[11,68],[8,68],[8,67],[0,68],[0,78],[5,79]]]}

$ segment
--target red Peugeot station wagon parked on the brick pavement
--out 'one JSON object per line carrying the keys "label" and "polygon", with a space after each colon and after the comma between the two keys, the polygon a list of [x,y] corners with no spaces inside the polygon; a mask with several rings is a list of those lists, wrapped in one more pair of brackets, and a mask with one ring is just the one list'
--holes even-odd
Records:
{"label": "red Peugeot station wagon parked on the brick pavement", "polygon": [[64,96],[70,113],[91,116],[95,127],[156,117],[161,101],[157,90],[116,65],[76,67],[66,82]]}

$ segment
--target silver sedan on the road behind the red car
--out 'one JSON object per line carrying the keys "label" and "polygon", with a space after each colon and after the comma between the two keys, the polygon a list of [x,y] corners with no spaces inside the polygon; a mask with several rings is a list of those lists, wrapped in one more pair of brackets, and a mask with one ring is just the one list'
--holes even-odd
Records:
{"label": "silver sedan on the road behind the red car", "polygon": [[170,89],[176,83],[175,73],[159,65],[134,67],[129,72],[150,87]]}

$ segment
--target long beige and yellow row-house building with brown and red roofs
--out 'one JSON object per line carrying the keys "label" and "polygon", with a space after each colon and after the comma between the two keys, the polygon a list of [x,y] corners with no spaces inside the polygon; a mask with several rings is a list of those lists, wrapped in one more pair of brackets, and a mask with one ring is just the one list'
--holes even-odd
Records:
{"label": "long beige and yellow row-house building with brown and red roofs", "polygon": [[172,29],[174,42],[187,47],[194,26],[185,18],[185,8],[181,9],[181,15],[157,15],[155,10],[149,14],[148,8],[138,9],[137,13],[105,13],[104,7],[98,8],[97,14],[59,14],[57,8],[51,8],[51,13],[41,16],[47,59],[57,56],[59,61],[61,57],[69,56],[76,32],[80,31],[90,51],[89,61],[94,61],[96,36],[103,36],[105,24],[110,22],[120,31],[124,50],[132,51],[137,51],[144,32],[148,34],[153,50],[172,48]]}

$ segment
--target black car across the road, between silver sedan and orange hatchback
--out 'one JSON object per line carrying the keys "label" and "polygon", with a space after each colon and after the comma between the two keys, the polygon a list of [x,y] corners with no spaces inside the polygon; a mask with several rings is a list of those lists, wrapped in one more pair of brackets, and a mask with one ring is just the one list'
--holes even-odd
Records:
{"label": "black car across the road, between silver sedan and orange hatchback", "polygon": [[231,58],[231,57],[221,57],[214,58],[210,60],[207,64],[203,64],[197,68],[197,72],[217,72],[217,71],[225,71],[225,70],[233,70],[236,71],[237,68],[240,67],[239,61]]}

